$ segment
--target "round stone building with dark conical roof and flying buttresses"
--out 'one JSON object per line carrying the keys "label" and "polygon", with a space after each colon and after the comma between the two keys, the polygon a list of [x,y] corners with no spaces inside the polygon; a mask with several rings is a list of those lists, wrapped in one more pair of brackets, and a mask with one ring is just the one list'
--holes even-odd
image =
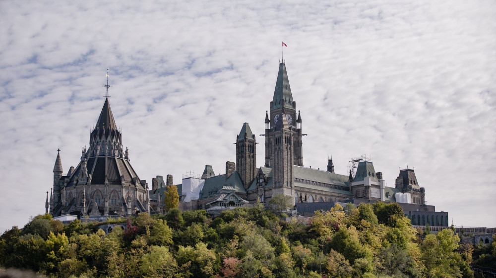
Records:
{"label": "round stone building with dark conical roof and flying buttresses", "polygon": [[48,201],[50,214],[54,217],[73,214],[98,218],[150,212],[148,185],[132,168],[128,149],[123,149],[122,134],[108,96],[90,133],[88,149],[83,147],[75,168],[70,167],[66,175],[62,173],[59,149],[53,192]]}

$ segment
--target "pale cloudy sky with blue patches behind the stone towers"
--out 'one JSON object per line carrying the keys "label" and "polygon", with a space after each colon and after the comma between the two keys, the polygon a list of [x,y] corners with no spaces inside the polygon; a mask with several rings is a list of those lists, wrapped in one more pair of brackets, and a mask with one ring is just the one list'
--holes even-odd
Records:
{"label": "pale cloudy sky with blue patches behind the stone towers", "polygon": [[[235,161],[263,133],[281,58],[304,165],[415,167],[456,226],[496,226],[493,0],[0,1],[0,232],[45,211],[110,102],[140,179]],[[257,137],[263,166],[263,137]]]}

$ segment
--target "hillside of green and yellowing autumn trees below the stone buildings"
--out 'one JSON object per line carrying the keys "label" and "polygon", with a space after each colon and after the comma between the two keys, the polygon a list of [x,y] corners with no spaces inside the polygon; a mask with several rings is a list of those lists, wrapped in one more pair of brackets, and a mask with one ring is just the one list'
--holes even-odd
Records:
{"label": "hillside of green and yellowing autumn trees below the stone buildings", "polygon": [[395,203],[336,205],[308,224],[278,216],[261,205],[215,218],[173,208],[109,219],[127,227],[106,234],[102,223],[39,215],[3,232],[0,265],[48,277],[474,277],[474,259],[496,258],[496,240],[474,247],[451,229],[423,234]]}

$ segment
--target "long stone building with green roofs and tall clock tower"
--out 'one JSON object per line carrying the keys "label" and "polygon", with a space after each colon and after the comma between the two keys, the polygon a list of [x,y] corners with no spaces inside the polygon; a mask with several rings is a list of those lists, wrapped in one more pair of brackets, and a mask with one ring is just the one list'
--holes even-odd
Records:
{"label": "long stone building with green roofs and tall clock tower", "polygon": [[[226,174],[219,176],[211,166],[205,167],[196,208],[219,210],[257,201],[268,205],[277,194],[291,196],[294,205],[353,198],[424,204],[424,188],[418,186],[411,169],[400,170],[393,188],[385,186],[382,173],[367,159],[358,163],[356,173],[346,175],[334,172],[332,158],[326,171],[303,166],[302,117],[296,110],[284,62],[279,63],[263,136],[265,161],[257,168],[256,138],[248,123],[243,124],[236,137],[236,164],[227,162]],[[229,205],[231,201],[234,206]]]}

